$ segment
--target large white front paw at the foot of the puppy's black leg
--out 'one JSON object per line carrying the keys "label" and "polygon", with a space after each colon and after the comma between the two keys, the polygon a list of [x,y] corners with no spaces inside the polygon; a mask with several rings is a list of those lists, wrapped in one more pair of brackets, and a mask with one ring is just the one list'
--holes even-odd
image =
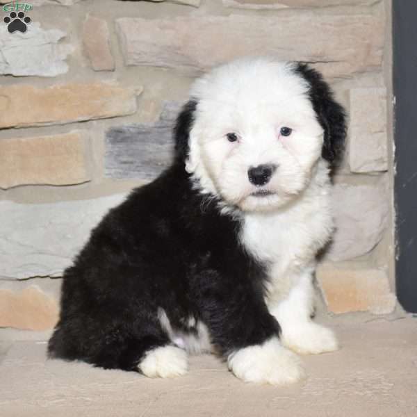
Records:
{"label": "large white front paw at the foot of the puppy's black leg", "polygon": [[300,358],[272,338],[263,345],[245,347],[229,355],[229,369],[245,382],[293,384],[305,377]]}

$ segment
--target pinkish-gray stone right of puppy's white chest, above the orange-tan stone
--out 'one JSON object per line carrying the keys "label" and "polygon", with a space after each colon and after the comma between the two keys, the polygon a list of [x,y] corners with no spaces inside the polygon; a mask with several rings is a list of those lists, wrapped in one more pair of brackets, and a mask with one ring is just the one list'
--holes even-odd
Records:
{"label": "pinkish-gray stone right of puppy's white chest, above the orange-tan stone", "polygon": [[389,201],[384,181],[377,186],[336,184],[332,190],[336,231],[325,259],[345,261],[373,250],[386,228]]}

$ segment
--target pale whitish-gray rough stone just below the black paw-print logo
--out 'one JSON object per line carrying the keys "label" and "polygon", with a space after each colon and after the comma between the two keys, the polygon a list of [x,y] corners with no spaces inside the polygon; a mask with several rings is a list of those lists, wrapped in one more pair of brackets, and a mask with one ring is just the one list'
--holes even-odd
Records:
{"label": "pale whitish-gray rough stone just below the black paw-print logo", "polygon": [[56,76],[65,74],[65,59],[72,52],[69,44],[60,44],[65,33],[45,30],[39,23],[28,26],[26,33],[11,35],[5,24],[0,25],[0,74],[15,76]]}

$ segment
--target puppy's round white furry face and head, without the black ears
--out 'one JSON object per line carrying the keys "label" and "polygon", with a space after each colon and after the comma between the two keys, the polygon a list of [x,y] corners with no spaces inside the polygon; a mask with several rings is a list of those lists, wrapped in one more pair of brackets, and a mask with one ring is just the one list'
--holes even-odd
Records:
{"label": "puppy's round white furry face and head, without the black ears", "polygon": [[292,64],[238,61],[199,79],[188,172],[243,211],[270,211],[309,183],[323,129]]}

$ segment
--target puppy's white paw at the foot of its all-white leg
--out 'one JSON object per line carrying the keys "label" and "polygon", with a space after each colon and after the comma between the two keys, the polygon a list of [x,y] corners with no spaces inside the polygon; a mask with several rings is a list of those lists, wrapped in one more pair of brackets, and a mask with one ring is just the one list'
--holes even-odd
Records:
{"label": "puppy's white paw at the foot of its all-white leg", "polygon": [[300,354],[318,354],[338,350],[338,342],[332,330],[314,322],[293,324],[282,329],[282,344]]}

